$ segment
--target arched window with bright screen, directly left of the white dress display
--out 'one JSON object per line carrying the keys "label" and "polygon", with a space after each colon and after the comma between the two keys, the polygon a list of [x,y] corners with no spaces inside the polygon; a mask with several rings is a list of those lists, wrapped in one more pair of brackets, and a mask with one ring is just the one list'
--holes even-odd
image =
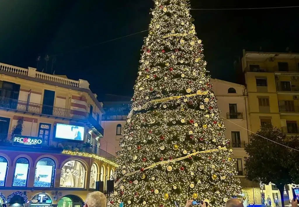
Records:
{"label": "arched window with bright screen, directly left of the white dress display", "polygon": [[53,188],[55,162],[51,158],[42,158],[36,164],[33,187]]}

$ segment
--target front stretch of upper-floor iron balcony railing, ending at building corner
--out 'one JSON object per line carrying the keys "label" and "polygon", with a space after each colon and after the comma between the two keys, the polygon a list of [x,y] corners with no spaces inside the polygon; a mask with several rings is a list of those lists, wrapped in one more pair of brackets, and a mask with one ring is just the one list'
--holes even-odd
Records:
{"label": "front stretch of upper-floor iron balcony railing, ending at building corner", "polygon": [[55,106],[42,105],[37,103],[31,103],[26,101],[20,101],[16,99],[9,99],[6,97],[0,97],[0,108],[11,109],[15,111],[28,112],[30,114],[41,114],[53,117],[71,118],[71,119],[86,119],[88,113],[85,112],[78,114],[78,111],[60,108]]}

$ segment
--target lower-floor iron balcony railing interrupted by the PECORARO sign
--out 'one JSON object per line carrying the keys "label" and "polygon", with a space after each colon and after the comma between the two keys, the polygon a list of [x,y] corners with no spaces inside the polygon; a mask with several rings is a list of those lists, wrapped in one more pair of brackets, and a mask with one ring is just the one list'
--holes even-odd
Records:
{"label": "lower-floor iron balcony railing interrupted by the PECORARO sign", "polygon": [[[13,135],[7,134],[0,134],[0,146],[13,146],[12,145]],[[29,148],[27,148],[29,149]],[[75,143],[75,142],[68,142],[68,141],[54,141],[50,140],[43,140],[42,149],[48,149],[52,151],[62,152],[63,149],[71,150],[71,151],[78,151],[78,152],[88,152],[91,154],[96,154],[98,156],[104,157],[110,161],[115,161],[115,156],[111,155],[110,153],[100,149],[100,147],[95,147],[93,145],[86,147],[84,143]]]}

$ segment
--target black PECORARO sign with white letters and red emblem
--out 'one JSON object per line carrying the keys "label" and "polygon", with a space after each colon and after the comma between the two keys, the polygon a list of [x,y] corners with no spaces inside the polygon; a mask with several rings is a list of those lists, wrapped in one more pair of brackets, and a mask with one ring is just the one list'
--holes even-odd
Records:
{"label": "black PECORARO sign with white letters and red emblem", "polygon": [[24,135],[14,135],[13,146],[42,148],[42,138]]}

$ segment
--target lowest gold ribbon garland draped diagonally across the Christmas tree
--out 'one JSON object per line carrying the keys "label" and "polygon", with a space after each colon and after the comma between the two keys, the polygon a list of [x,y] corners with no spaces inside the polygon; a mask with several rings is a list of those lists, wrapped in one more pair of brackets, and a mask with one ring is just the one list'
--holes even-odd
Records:
{"label": "lowest gold ribbon garland draped diagonally across the Christmas tree", "polygon": [[[149,166],[147,166],[147,167],[144,167],[143,170],[147,170],[147,169],[149,169],[149,168],[153,168],[153,167],[155,167],[155,166],[157,166],[157,165],[159,165],[159,164],[168,164],[168,163],[173,163],[173,162],[181,161],[181,160],[184,160],[184,159],[186,159],[186,158],[188,158],[188,157],[190,157],[190,156],[197,155],[197,154],[199,154],[199,153],[204,154],[204,153],[210,153],[210,152],[217,152],[217,151],[219,151],[219,150],[227,150],[227,149],[226,149],[226,147],[221,147],[221,148],[219,148],[219,149],[208,149],[208,150],[204,150],[204,151],[193,152],[193,153],[191,153],[191,154],[189,154],[189,155],[186,155],[186,156],[184,156],[184,157],[180,157],[180,158],[176,158],[176,159],[173,159],[173,160],[165,160],[165,161],[159,161],[159,162],[156,162],[156,163],[151,164],[151,165],[149,165]],[[124,177],[126,177],[126,176],[130,176],[130,175],[134,175],[135,173],[138,173],[138,172],[141,172],[141,171],[140,171],[140,170],[136,170],[136,171],[133,171],[133,172],[131,172],[131,173],[126,173],[126,174],[125,174],[123,177],[121,177],[121,178],[120,178],[114,185],[117,186],[117,185],[119,184],[119,182],[120,182],[121,180],[123,180]]]}

